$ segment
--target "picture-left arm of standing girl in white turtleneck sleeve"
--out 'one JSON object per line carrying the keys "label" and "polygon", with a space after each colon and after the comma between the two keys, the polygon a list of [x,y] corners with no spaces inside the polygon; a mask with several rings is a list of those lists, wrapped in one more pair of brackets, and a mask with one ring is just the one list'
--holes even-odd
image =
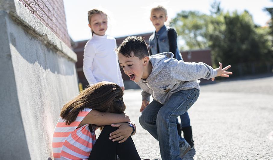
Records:
{"label": "picture-left arm of standing girl in white turtleneck sleeve", "polygon": [[88,83],[94,84],[98,81],[95,79],[93,72],[92,72],[92,65],[93,60],[95,57],[95,48],[89,42],[85,45],[84,53],[83,53],[83,73],[85,78],[87,79]]}

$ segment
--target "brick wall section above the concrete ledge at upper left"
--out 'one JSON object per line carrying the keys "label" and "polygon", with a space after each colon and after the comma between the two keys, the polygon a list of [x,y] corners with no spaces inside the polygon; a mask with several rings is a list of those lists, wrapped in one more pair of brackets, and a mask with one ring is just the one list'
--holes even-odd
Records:
{"label": "brick wall section above the concrete ledge at upper left", "polygon": [[18,0],[43,24],[71,47],[62,0]]}

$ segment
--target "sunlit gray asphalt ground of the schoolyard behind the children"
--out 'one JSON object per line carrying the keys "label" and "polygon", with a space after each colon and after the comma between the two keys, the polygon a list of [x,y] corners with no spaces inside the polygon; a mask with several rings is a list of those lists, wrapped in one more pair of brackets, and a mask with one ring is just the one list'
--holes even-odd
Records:
{"label": "sunlit gray asphalt ground of the schoolyard behind the children", "polygon": [[[161,159],[157,140],[138,122],[140,92],[124,95],[137,125],[133,140],[141,158]],[[273,159],[273,75],[203,85],[189,115],[195,149],[183,159]]]}

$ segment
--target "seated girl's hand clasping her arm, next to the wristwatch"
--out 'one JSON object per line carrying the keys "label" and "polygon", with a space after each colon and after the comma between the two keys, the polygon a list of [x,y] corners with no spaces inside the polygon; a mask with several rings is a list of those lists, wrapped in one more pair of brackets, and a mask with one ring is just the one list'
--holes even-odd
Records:
{"label": "seated girl's hand clasping her arm, next to the wristwatch", "polygon": [[131,136],[133,132],[133,128],[129,126],[128,123],[117,123],[111,124],[112,127],[119,127],[119,129],[110,133],[109,139],[113,142],[119,141],[119,143],[123,143],[127,140],[129,136]]}

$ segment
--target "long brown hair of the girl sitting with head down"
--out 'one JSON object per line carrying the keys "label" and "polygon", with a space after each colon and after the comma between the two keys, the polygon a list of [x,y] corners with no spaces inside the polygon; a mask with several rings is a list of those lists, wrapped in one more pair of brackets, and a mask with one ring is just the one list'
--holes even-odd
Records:
{"label": "long brown hair of the girl sitting with head down", "polygon": [[[60,116],[65,120],[65,124],[70,125],[84,108],[92,108],[101,112],[122,113],[126,108],[123,100],[119,99],[122,96],[123,90],[119,85],[112,82],[99,82],[84,89],[73,100],[65,104]],[[119,100],[116,101],[116,98]]]}

